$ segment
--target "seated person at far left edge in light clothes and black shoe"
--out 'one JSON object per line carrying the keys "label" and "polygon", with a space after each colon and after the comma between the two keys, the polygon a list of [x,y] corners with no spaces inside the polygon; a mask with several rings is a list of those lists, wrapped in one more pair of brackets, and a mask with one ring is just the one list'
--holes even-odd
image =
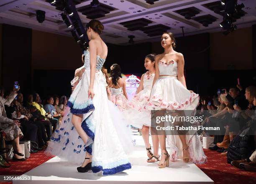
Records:
{"label": "seated person at far left edge in light clothes and black shoe", "polygon": [[23,153],[20,153],[20,139],[23,137],[23,133],[20,130],[20,122],[18,120],[12,120],[7,118],[5,105],[9,106],[13,99],[17,96],[18,89],[13,87],[13,91],[8,98],[3,98],[3,91],[0,90],[0,131],[5,133],[5,140],[12,141],[13,144],[13,161],[25,161]]}

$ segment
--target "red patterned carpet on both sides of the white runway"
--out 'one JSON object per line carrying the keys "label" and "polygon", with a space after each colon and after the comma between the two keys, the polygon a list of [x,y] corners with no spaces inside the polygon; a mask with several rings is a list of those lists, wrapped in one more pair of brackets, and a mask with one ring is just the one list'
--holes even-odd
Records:
{"label": "red patterned carpet on both sides of the white runway", "polygon": [[[227,163],[226,156],[216,151],[204,150],[208,163],[197,166],[209,176],[215,184],[256,184],[256,173],[243,171]],[[10,161],[10,168],[0,168],[0,175],[21,175],[48,161],[51,157],[45,156],[43,151],[31,154],[27,161]],[[11,184],[11,182],[0,182]]]}

